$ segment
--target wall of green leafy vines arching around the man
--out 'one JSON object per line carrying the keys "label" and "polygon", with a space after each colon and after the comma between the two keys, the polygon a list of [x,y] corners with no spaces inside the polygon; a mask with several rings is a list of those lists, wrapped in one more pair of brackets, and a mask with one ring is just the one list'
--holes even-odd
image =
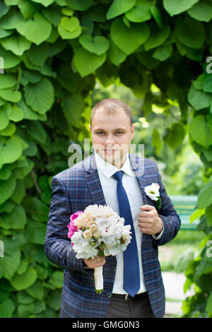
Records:
{"label": "wall of green leafy vines arching around the man", "polygon": [[140,117],[173,115],[153,131],[158,154],[188,136],[203,162],[206,237],[187,260],[184,312],[212,316],[211,18],[211,0],[0,1],[0,317],[59,316],[63,273],[43,251],[51,179],[89,137],[96,79],[143,99]]}

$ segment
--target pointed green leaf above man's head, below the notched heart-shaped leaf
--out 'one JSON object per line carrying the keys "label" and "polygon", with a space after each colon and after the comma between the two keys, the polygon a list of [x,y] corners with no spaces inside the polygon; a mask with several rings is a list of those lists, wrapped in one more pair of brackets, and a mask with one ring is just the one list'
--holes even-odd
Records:
{"label": "pointed green leaf above man's head, below the notched heart-shaped leaf", "polygon": [[106,54],[93,54],[80,47],[73,55],[73,62],[81,77],[85,77],[102,66],[106,57]]}

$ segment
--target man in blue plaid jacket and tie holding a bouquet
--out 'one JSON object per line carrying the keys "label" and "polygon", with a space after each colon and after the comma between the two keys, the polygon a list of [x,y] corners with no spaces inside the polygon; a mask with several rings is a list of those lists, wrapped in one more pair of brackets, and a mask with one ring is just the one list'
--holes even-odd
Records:
{"label": "man in blue plaid jacket and tie holding a bouquet", "polygon": [[[131,109],[117,99],[102,100],[90,120],[95,153],[52,178],[45,254],[64,268],[61,317],[163,317],[158,245],[177,235],[179,217],[155,162],[129,153],[135,129]],[[153,182],[160,186],[159,213],[144,191]],[[91,204],[110,206],[121,216],[128,213],[132,247],[117,256],[76,259],[67,225],[72,213]],[[93,278],[98,266],[103,266],[101,295],[95,294]]]}

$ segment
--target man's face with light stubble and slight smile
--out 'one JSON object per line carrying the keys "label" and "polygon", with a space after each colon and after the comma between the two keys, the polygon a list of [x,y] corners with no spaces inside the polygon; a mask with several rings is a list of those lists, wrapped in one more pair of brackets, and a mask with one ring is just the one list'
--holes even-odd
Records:
{"label": "man's face with light stubble and slight smile", "polygon": [[114,114],[98,109],[90,127],[94,150],[102,159],[122,167],[134,134],[135,126],[130,123],[124,109]]}

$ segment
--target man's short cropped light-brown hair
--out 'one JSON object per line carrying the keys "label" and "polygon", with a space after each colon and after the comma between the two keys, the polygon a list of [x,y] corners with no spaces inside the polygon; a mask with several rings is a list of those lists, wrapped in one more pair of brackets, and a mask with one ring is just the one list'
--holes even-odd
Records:
{"label": "man's short cropped light-brown hair", "polygon": [[90,126],[92,126],[92,118],[93,118],[95,112],[100,108],[103,108],[104,111],[106,111],[110,114],[115,114],[117,112],[117,109],[122,108],[124,110],[124,112],[126,113],[126,115],[129,117],[130,124],[131,125],[133,124],[131,108],[128,105],[126,105],[126,102],[122,102],[122,100],[119,100],[116,98],[107,98],[107,99],[101,100],[100,102],[95,104],[95,106],[93,107],[93,109],[91,111],[91,116],[90,116]]}

